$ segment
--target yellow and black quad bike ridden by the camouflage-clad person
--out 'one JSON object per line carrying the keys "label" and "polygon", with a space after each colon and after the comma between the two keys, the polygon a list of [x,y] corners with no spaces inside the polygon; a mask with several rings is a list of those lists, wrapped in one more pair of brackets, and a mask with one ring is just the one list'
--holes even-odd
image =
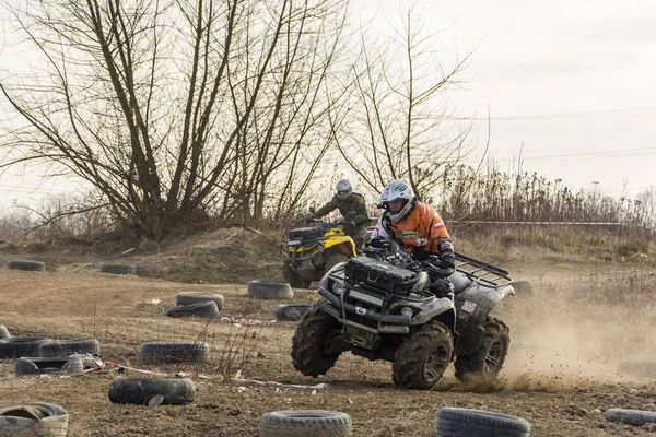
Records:
{"label": "yellow and black quad bike ridden by the camouflage-clad person", "polygon": [[356,256],[353,238],[344,233],[344,227],[354,226],[353,222],[306,221],[317,225],[290,229],[289,239],[282,244],[282,275],[291,286],[300,288],[307,288],[328,270]]}

